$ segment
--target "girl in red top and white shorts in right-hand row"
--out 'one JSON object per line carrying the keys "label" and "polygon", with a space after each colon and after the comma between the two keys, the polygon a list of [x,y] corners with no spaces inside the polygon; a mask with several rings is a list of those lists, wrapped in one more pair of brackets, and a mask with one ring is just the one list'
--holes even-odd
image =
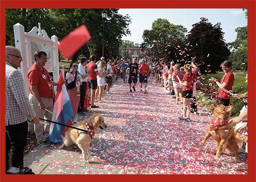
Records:
{"label": "girl in red top and white shorts in right-hand row", "polygon": [[182,102],[182,85],[180,85],[177,77],[179,77],[180,80],[182,80],[183,76],[184,76],[184,73],[180,71],[180,65],[176,64],[175,66],[173,66],[172,85],[173,85],[173,88],[175,89],[176,104],[178,104],[179,98],[180,98],[180,101]]}

